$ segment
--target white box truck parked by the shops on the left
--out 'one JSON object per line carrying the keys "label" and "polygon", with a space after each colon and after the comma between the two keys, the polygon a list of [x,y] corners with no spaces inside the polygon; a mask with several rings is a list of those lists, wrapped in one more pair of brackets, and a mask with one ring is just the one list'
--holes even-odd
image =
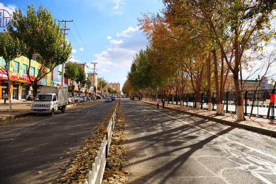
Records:
{"label": "white box truck parked by the shops on the left", "polygon": [[36,95],[31,103],[31,112],[33,113],[49,113],[54,115],[56,110],[65,112],[68,104],[68,88],[67,87],[39,87],[39,94]]}

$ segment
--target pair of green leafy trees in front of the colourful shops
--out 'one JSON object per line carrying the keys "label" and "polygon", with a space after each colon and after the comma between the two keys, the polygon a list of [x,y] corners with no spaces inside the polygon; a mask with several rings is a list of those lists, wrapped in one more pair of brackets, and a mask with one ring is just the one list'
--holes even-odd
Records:
{"label": "pair of green leafy trees in front of the colourful shops", "polygon": [[[71,55],[71,42],[65,39],[60,24],[57,24],[56,19],[42,6],[36,11],[33,5],[28,5],[26,15],[22,14],[20,9],[16,9],[12,14],[11,24],[7,31],[4,30],[0,35],[0,56],[6,61],[6,66],[2,69],[8,76],[9,93],[8,65],[19,55],[29,59],[27,74],[34,89],[34,96],[37,94],[37,82],[52,72],[56,66],[65,63]],[[33,54],[39,54],[37,62],[40,64],[40,68],[32,79],[30,67]]]}

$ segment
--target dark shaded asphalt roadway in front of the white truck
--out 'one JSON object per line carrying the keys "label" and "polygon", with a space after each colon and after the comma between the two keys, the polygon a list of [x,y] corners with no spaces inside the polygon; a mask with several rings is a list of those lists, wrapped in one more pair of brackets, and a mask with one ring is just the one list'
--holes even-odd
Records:
{"label": "dark shaded asphalt roadway in front of the white truck", "polygon": [[0,183],[55,183],[110,112],[104,101],[0,126]]}

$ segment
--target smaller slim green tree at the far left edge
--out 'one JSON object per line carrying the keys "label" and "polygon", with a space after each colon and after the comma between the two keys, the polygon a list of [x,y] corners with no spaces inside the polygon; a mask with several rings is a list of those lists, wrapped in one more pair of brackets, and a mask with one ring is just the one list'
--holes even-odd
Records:
{"label": "smaller slim green tree at the far left edge", "polygon": [[[8,97],[9,97],[9,108],[10,112],[12,111],[11,106],[11,78],[9,75],[9,64],[12,62],[15,58],[19,56],[20,53],[20,42],[18,39],[13,40],[12,37],[7,33],[3,32],[0,33],[0,56],[3,57],[6,64],[4,68],[1,68],[1,71],[6,74],[8,78]],[[2,66],[0,66],[2,67]]]}

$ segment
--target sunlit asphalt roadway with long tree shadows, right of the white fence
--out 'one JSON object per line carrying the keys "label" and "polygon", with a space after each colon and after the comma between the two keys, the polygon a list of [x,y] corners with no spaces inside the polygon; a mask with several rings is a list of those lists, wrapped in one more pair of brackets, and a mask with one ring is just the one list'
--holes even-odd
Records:
{"label": "sunlit asphalt roadway with long tree shadows, right of the white fence", "polygon": [[128,183],[276,183],[276,139],[122,100]]}

